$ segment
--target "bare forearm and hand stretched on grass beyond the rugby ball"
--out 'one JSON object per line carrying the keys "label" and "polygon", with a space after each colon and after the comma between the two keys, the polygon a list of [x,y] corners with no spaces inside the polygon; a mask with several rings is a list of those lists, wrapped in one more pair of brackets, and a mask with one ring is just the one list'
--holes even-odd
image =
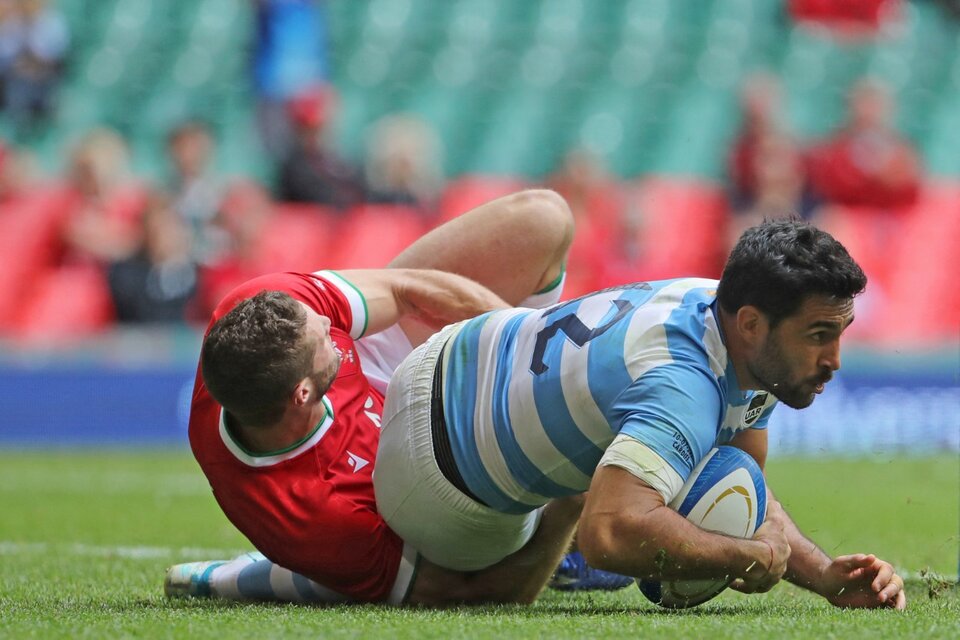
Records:
{"label": "bare forearm and hand stretched on grass beyond the rugby ball", "polygon": [[[768,492],[768,498],[773,494]],[[903,578],[889,562],[863,553],[831,558],[805,537],[786,513],[784,532],[793,549],[784,576],[790,582],[838,607],[906,608]]]}

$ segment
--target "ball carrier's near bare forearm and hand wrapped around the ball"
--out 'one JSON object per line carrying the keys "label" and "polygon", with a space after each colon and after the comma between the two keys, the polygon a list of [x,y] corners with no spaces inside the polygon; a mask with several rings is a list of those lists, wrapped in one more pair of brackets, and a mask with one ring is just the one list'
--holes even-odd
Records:
{"label": "ball carrier's near bare forearm and hand wrapped around the ball", "polygon": [[786,569],[790,547],[777,517],[754,539],[705,531],[664,504],[633,474],[601,466],[590,485],[577,533],[580,551],[598,569],[638,578],[732,577],[741,591],[767,591]]}

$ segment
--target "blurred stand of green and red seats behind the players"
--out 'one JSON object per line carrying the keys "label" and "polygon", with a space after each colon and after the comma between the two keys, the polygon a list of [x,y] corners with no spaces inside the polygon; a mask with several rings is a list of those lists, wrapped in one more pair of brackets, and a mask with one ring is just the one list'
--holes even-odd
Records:
{"label": "blurred stand of green and red seats behind the players", "polygon": [[[199,117],[217,134],[220,173],[269,182],[275,167],[254,134],[252,3],[56,4],[71,32],[62,107],[40,131],[11,130],[0,116],[0,137],[36,154],[48,173],[60,173],[70,142],[108,125],[128,140],[137,175],[157,180],[170,127]],[[635,259],[618,277],[716,275],[742,80],[760,68],[778,75],[790,128],[815,140],[842,120],[852,83],[876,75],[894,90],[897,128],[920,150],[930,178],[922,202],[890,223],[896,228],[887,240],[870,240],[876,234],[863,212],[847,212],[837,226],[878,292],[870,301],[875,327],[860,336],[955,338],[955,287],[949,271],[928,265],[956,261],[957,24],[935,3],[900,2],[892,17],[871,21],[867,37],[848,39],[791,20],[787,4],[330,0],[331,81],[341,100],[335,141],[358,161],[368,126],[383,115],[404,111],[427,122],[444,143],[450,180],[436,222],[538,184],[569,149],[587,148],[624,181],[629,209],[642,221]],[[337,233],[347,238],[335,252],[338,266],[373,266],[423,228],[406,213],[357,211],[334,221],[319,210],[279,206],[253,262],[320,266],[315,258],[330,249],[323,240]],[[43,238],[52,232],[45,218],[34,217],[26,209],[0,212],[0,229],[22,239],[0,240],[4,261],[15,263],[2,276],[9,291],[33,286],[26,283],[40,282],[50,268]],[[370,241],[371,234],[392,244]],[[941,287],[951,293],[935,293]],[[18,322],[15,307],[9,299],[0,303],[4,331]],[[905,308],[918,309],[914,321],[905,319]]]}

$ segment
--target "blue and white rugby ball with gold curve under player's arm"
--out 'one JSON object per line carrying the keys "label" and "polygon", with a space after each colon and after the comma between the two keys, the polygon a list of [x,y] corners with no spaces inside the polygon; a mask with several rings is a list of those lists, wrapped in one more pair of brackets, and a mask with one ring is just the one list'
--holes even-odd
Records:
{"label": "blue and white rugby ball with gold curve under player's arm", "polygon": [[[752,538],[767,511],[767,485],[756,461],[736,447],[711,449],[670,502],[702,529]],[[648,600],[668,609],[702,604],[727,588],[726,580],[637,580]]]}

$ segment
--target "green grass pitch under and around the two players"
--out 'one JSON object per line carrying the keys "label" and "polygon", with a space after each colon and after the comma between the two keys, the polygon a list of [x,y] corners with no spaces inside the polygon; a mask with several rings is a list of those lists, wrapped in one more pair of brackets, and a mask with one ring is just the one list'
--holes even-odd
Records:
{"label": "green grass pitch under and around the two players", "polygon": [[681,612],[633,587],[450,611],[166,601],[169,564],[248,550],[188,453],[0,451],[0,638],[960,636],[957,588],[921,576],[956,575],[956,457],[773,459],[768,477],[830,553],[873,552],[906,572],[908,610],[841,611],[787,584]]}

